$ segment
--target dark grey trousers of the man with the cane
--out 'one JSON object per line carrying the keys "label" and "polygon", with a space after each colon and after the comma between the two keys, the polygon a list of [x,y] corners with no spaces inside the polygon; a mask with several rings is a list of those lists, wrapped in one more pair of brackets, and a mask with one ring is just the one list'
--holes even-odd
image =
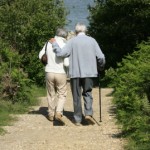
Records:
{"label": "dark grey trousers of the man with the cane", "polygon": [[71,78],[71,90],[73,96],[74,119],[76,122],[82,121],[82,102],[81,92],[84,99],[85,116],[93,115],[93,78]]}

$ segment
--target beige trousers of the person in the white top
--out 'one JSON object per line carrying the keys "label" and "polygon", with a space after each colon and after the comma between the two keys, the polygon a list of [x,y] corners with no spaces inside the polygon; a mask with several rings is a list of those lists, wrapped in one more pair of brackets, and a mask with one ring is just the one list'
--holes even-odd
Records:
{"label": "beige trousers of the person in the white top", "polygon": [[55,111],[63,114],[67,96],[67,77],[62,73],[46,73],[46,88],[48,114],[55,115]]}

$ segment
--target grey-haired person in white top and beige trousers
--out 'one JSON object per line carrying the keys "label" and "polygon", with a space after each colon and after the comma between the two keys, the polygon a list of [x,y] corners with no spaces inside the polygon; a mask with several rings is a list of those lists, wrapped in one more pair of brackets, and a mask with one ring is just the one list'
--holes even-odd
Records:
{"label": "grey-haired person in white top and beige trousers", "polygon": [[[66,44],[68,32],[63,28],[58,28],[56,31],[55,40],[62,48]],[[39,53],[39,59],[45,53],[45,46]],[[65,67],[69,66],[69,59],[56,57],[52,49],[52,44],[47,43],[48,64],[45,66],[46,72],[46,88],[48,101],[48,119],[53,121],[54,118],[65,124],[63,120],[63,108],[67,96],[67,76]],[[56,94],[58,99],[56,99]],[[55,114],[56,110],[56,114]]]}

